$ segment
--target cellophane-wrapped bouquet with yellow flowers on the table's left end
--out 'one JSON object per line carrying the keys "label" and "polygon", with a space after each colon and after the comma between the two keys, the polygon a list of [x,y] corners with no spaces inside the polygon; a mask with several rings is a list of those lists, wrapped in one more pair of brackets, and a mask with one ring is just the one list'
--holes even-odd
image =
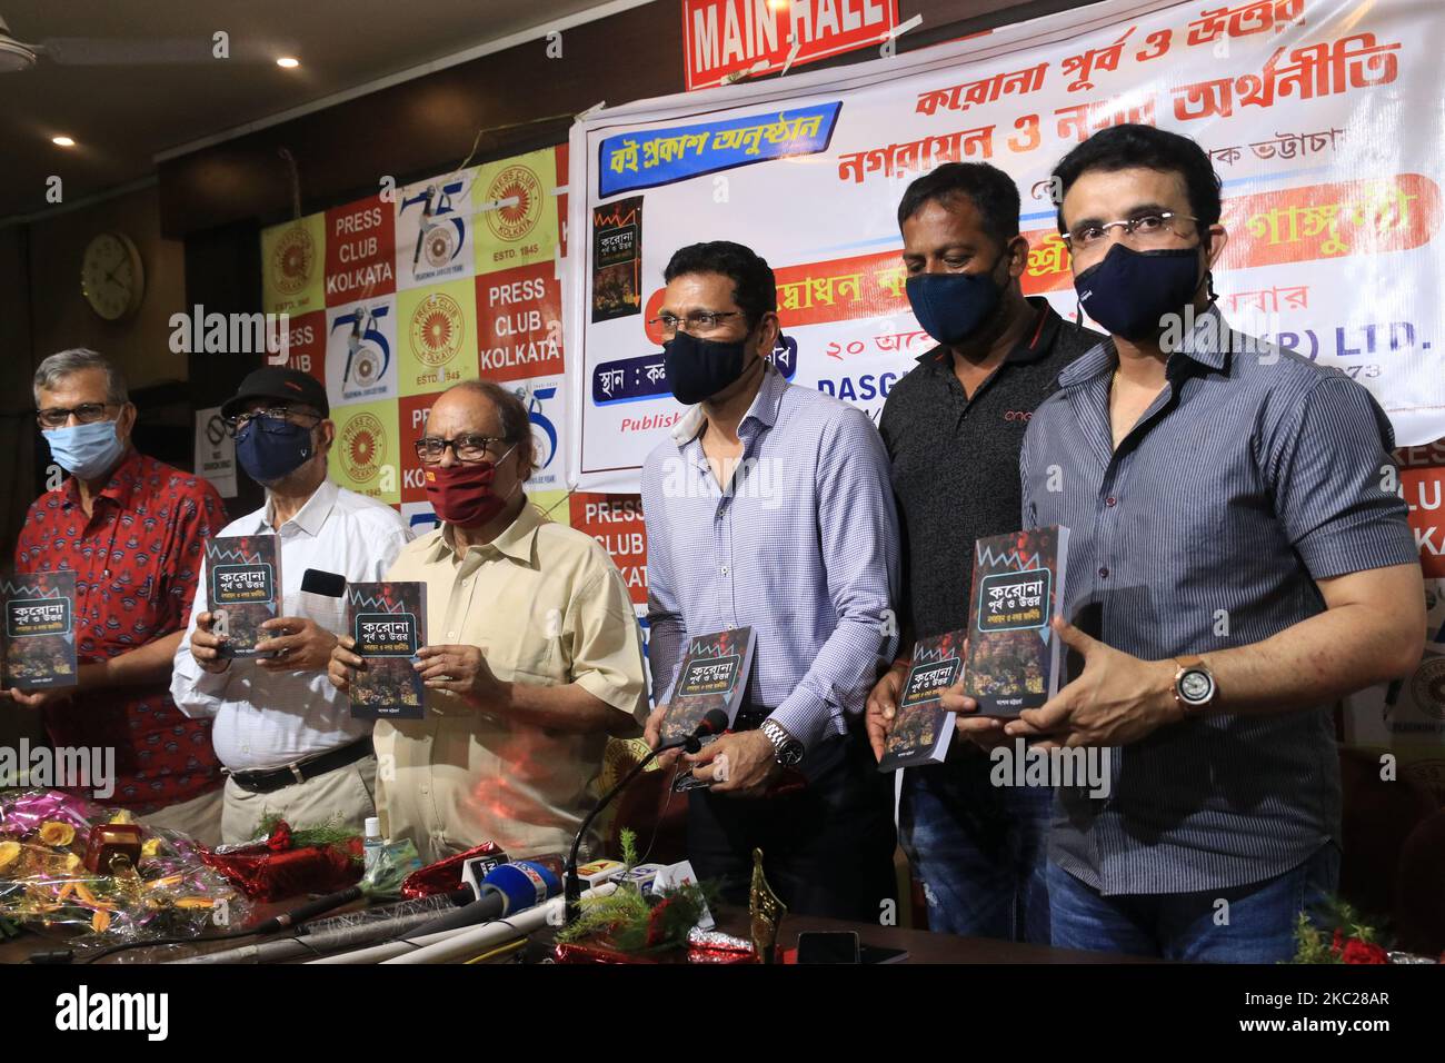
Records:
{"label": "cellophane-wrapped bouquet with yellow flowers on the table's left end", "polygon": [[[117,874],[88,871],[91,827],[108,823],[142,827],[140,859]],[[186,834],[74,794],[0,790],[0,920],[105,944],[240,926],[246,901],[204,852]]]}

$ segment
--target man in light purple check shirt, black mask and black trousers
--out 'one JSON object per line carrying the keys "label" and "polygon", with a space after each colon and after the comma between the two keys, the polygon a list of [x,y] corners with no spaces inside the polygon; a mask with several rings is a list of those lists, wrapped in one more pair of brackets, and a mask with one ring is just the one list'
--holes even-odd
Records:
{"label": "man in light purple check shirt, black mask and black trousers", "polygon": [[643,467],[647,736],[686,641],[753,628],[734,733],[689,758],[708,788],[689,794],[688,856],[746,904],[759,848],[790,911],[873,921],[894,894],[892,787],[861,719],[897,641],[887,454],[863,411],[769,362],[777,289],[763,259],[694,244],[665,279],[668,382],[692,408]]}

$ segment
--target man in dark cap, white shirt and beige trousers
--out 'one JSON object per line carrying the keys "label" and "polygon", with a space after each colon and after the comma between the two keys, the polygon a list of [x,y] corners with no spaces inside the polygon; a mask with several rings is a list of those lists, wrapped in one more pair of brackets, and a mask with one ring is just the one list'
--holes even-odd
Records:
{"label": "man in dark cap, white shirt and beige trousers", "polygon": [[292,826],[338,821],[358,830],[376,814],[371,723],[351,719],[347,699],[327,681],[344,622],[341,599],[302,594],[308,570],[348,583],[386,579],[410,538],[402,516],[327,476],[335,438],[325,389],[306,373],[266,366],[221,406],[236,435],[236,460],[266,489],[266,505],[221,535],[280,538],[282,616],[266,620],[266,657],[220,657],[205,574],[191,626],[175,659],[171,693],[181,710],[214,719],[215,754],[225,765],[221,834],[254,837],[280,814]]}

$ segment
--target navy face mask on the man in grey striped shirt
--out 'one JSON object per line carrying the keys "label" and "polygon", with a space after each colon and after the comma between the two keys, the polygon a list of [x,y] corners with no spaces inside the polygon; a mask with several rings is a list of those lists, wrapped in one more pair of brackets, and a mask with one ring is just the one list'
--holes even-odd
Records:
{"label": "navy face mask on the man in grey striped shirt", "polygon": [[1074,278],[1079,307],[1110,336],[1147,340],[1199,289],[1199,247],[1136,252],[1116,243],[1103,262]]}

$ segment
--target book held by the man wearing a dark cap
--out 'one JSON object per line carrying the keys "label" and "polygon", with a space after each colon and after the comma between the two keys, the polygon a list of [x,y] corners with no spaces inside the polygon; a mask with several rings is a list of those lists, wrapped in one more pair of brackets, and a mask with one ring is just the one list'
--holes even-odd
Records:
{"label": "book held by the man wearing a dark cap", "polygon": [[260,626],[280,616],[280,539],[275,535],[217,535],[205,544],[207,607],[211,632],[224,635],[220,655],[267,657],[256,644]]}

